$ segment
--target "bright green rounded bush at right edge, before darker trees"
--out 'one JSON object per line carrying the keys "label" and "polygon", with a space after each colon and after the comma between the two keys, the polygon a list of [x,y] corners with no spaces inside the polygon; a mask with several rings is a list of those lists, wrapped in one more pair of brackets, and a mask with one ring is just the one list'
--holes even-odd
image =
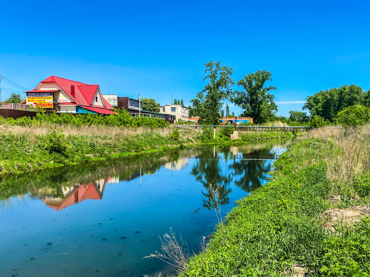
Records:
{"label": "bright green rounded bush at right edge, before darker trees", "polygon": [[335,117],[335,122],[345,127],[356,127],[370,122],[370,108],[354,105],[341,110]]}

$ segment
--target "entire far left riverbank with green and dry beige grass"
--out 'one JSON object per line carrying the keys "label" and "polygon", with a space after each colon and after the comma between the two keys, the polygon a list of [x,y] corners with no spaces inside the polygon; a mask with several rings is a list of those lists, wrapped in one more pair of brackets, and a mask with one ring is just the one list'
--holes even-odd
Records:
{"label": "entire far left riverbank with green and dry beige grass", "polygon": [[172,127],[122,127],[91,124],[73,126],[55,123],[14,122],[0,125],[0,175],[17,174],[42,168],[107,160],[182,145],[205,143],[245,143],[293,136],[292,133],[245,134],[231,141],[217,132],[216,140],[200,131],[181,130],[173,136]]}

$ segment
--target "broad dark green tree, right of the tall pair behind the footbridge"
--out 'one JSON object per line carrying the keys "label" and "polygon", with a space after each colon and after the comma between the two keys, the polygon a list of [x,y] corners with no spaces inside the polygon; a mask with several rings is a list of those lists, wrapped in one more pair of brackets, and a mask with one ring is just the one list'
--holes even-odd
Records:
{"label": "broad dark green tree, right of the tall pair behind the footbridge", "polygon": [[253,122],[263,123],[277,112],[275,96],[269,93],[276,88],[265,86],[265,82],[271,80],[269,71],[258,70],[238,81],[238,86],[242,86],[245,91],[235,91],[233,102],[244,110],[240,114],[242,117],[252,117]]}

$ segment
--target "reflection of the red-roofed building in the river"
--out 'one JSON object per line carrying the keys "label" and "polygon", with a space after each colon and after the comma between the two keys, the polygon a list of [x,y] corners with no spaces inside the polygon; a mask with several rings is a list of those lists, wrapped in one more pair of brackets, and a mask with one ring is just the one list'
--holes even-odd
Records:
{"label": "reflection of the red-roofed building in the river", "polygon": [[86,199],[101,200],[103,197],[105,185],[109,182],[111,177],[107,179],[100,179],[89,184],[75,185],[65,198],[60,197],[41,197],[44,203],[57,211],[62,210],[68,206],[82,202]]}

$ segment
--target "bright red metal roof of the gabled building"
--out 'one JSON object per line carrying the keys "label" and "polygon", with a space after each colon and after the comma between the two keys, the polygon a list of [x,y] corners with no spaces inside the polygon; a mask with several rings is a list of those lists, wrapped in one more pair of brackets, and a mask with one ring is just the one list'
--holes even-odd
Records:
{"label": "bright red metal roof of the gabled building", "polygon": [[[99,88],[99,85],[88,85],[85,83],[61,78],[61,77],[54,76],[54,75],[41,81],[41,83],[56,83],[71,98],[71,102],[76,103],[78,106],[85,106],[85,107],[91,106],[92,98],[94,97],[96,90]],[[74,97],[71,95],[72,85],[74,86]],[[36,90],[36,88],[32,90],[32,92],[41,91],[41,90]],[[43,92],[55,92],[57,90],[42,90],[42,91]],[[103,98],[103,101],[104,101],[105,107],[97,106],[99,107],[99,109],[101,110],[106,110],[106,109],[112,110],[113,109],[112,105],[110,105],[110,103],[108,103],[106,99]],[[102,113],[102,111],[100,113]],[[108,113],[108,112],[105,112],[105,113]]]}

